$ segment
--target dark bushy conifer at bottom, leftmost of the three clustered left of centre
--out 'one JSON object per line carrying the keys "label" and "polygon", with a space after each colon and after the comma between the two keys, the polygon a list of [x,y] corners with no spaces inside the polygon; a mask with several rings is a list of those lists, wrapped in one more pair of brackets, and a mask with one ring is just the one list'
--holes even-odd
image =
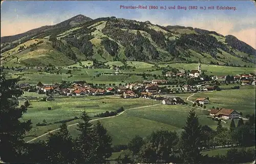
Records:
{"label": "dark bushy conifer at bottom, leftmost of the three clustered left of centre", "polygon": [[74,161],[73,140],[66,123],[62,123],[60,130],[48,136],[47,156],[51,163],[72,163]]}

